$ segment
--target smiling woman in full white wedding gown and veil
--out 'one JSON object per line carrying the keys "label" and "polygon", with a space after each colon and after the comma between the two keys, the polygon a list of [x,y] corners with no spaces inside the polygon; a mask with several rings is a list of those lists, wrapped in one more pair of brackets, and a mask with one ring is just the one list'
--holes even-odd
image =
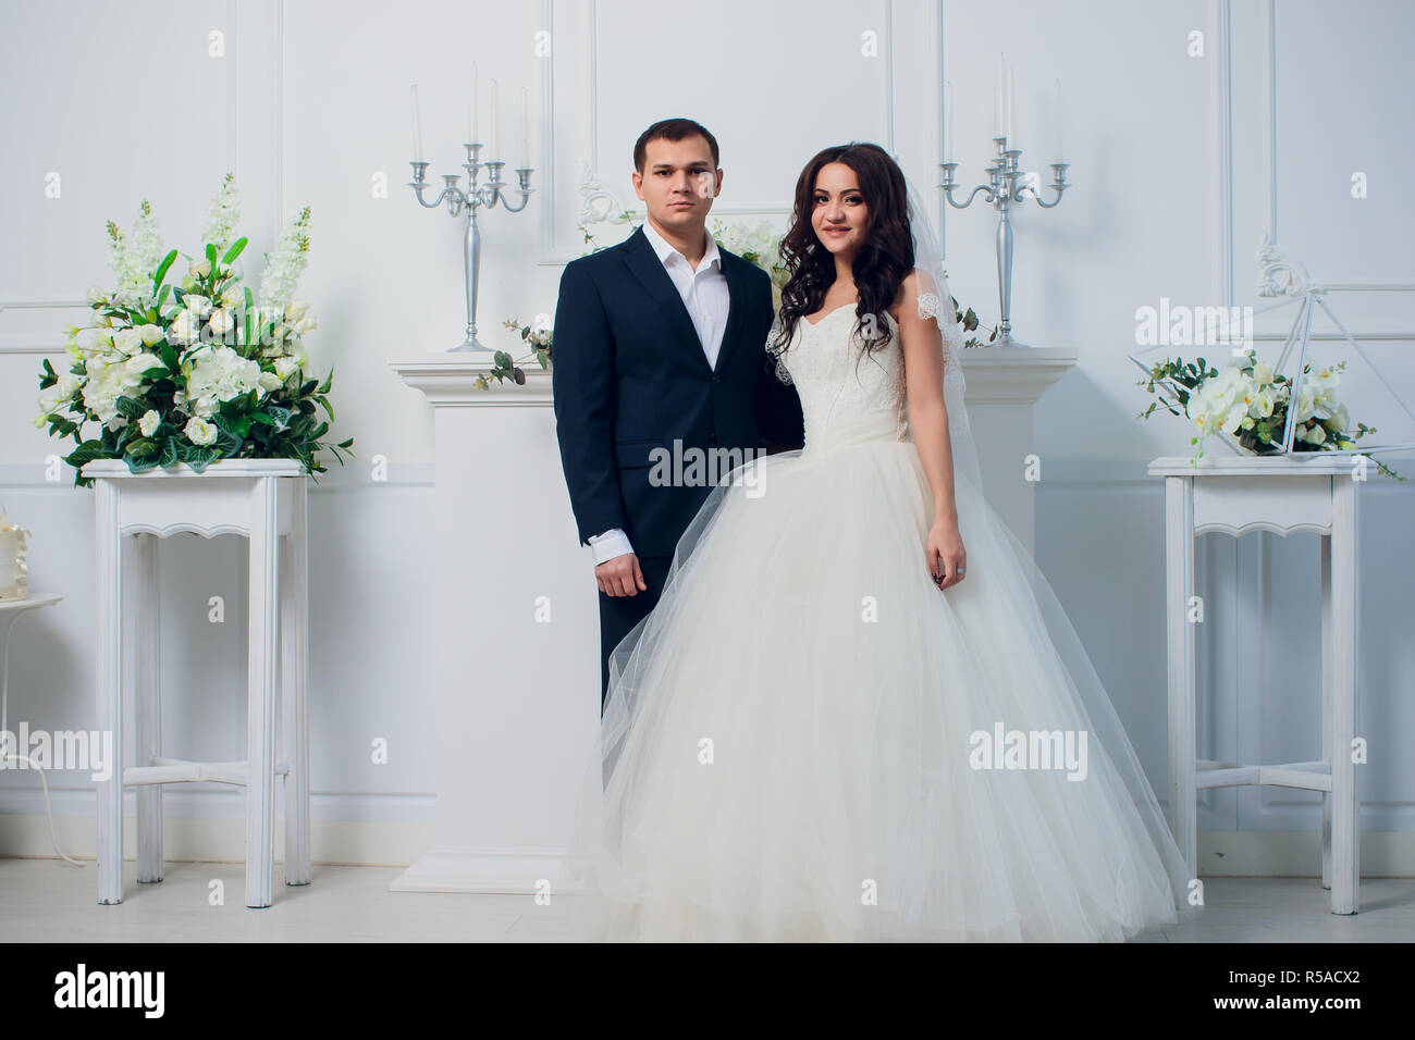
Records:
{"label": "smiling woman in full white wedding gown and veil", "polygon": [[816,154],[782,256],[768,349],[805,447],[712,490],[614,651],[567,857],[577,924],[1119,941],[1176,921],[1197,882],[983,498],[952,297],[893,158]]}

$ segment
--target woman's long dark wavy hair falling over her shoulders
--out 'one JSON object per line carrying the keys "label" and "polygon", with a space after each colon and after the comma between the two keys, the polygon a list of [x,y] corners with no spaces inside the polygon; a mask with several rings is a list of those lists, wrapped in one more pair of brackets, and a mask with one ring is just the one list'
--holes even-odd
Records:
{"label": "woman's long dark wavy hair falling over her shoulders", "polygon": [[908,231],[904,171],[884,149],[867,141],[822,149],[797,178],[791,226],[781,239],[781,259],[788,277],[781,289],[781,328],[774,345],[784,348],[791,342],[797,323],[821,310],[825,294],[835,282],[835,256],[811,226],[815,178],[821,167],[829,163],[843,163],[855,171],[865,205],[869,207],[865,245],[855,256],[850,272],[860,297],[855,307],[855,330],[863,330],[866,314],[873,314],[876,328],[883,330],[882,335],[865,340],[865,351],[873,352],[887,345],[893,335],[884,320],[884,310],[894,303],[900,284],[914,269],[914,236]]}

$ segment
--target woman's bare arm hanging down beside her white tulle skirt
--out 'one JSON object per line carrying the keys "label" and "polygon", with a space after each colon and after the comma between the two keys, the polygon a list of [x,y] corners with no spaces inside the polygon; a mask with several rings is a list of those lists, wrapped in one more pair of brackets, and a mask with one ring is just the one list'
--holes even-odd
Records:
{"label": "woman's bare arm hanging down beside her white tulle skirt", "polygon": [[935,291],[931,283],[918,284],[918,272],[911,272],[900,286],[896,321],[904,351],[908,424],[934,492],[934,521],[925,552],[930,570],[944,574],[940,587],[947,589],[958,582],[955,572],[964,567],[965,553],[958,535],[954,454],[948,436],[948,406],[944,403],[944,337],[934,318],[918,313],[918,294]]}

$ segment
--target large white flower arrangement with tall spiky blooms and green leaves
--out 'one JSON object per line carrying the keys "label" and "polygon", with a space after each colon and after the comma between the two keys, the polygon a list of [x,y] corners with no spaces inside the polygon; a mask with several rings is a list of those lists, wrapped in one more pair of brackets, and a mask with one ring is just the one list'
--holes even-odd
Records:
{"label": "large white flower arrangement with tall spiky blooms and green leaves", "polygon": [[[92,484],[79,470],[93,458],[122,458],[133,473],[178,463],[202,473],[235,457],[297,458],[311,475],[324,473],[316,456],[330,424],[317,419],[316,406],[334,419],[325,396],[334,372],[324,382],[304,378],[301,337],[318,323],[307,301],[291,300],[307,263],[310,208],[266,258],[259,303],[238,287],[233,265],[246,246],[245,238],[233,239],[239,211],[228,173],[212,200],[205,255],[187,258],[180,286],[164,283],[178,253],[164,255],[147,200],[127,233],[108,222],[117,287],[89,290],[91,324],[68,330],[69,371],[55,372],[45,358],[40,374],[34,424],[74,437],[78,447],[64,461],[75,468],[75,485]],[[89,422],[102,426],[85,439]],[[352,443],[328,447],[338,458]]]}

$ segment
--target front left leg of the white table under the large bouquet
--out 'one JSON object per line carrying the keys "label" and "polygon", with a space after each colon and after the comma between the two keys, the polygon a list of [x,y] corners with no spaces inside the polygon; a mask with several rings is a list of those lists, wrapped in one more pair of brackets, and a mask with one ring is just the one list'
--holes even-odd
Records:
{"label": "front left leg of the white table under the large bouquet", "polygon": [[113,758],[98,790],[98,901],[123,901],[123,535],[117,490],[93,481],[93,572],[98,600],[95,628],[96,724],[110,733]]}

